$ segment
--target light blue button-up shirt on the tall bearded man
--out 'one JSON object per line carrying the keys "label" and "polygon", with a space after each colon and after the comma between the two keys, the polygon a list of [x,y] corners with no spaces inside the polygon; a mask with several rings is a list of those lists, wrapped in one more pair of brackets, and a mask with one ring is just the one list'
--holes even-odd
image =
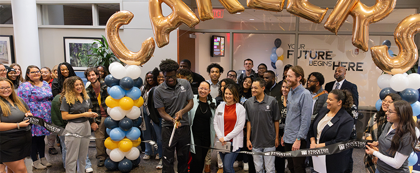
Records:
{"label": "light blue button-up shirt on the tall bearded man", "polygon": [[287,114],[283,140],[294,143],[297,138],[306,139],[311,124],[312,94],[299,85],[287,94]]}

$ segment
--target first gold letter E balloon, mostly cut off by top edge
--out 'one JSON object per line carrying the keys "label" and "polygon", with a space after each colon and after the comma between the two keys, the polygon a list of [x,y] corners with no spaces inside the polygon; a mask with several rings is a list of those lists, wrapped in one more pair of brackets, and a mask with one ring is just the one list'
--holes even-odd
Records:
{"label": "first gold letter E balloon, mostly cut off by top edge", "polygon": [[283,10],[284,0],[247,0],[247,6],[254,9],[280,12]]}

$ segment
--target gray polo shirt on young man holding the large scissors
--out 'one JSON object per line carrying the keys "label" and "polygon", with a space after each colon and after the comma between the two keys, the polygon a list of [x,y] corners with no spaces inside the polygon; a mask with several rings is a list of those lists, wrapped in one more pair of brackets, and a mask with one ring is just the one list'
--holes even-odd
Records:
{"label": "gray polo shirt on young man holding the large scissors", "polygon": [[[184,109],[187,101],[194,98],[193,90],[191,90],[190,83],[185,79],[176,79],[175,88],[172,89],[166,85],[166,82],[160,84],[155,88],[153,99],[155,101],[155,108],[165,108],[165,112],[172,118],[175,118],[175,113]],[[182,115],[182,120],[179,121],[181,126],[188,126],[188,112]],[[173,127],[172,122],[162,120],[162,127]]]}

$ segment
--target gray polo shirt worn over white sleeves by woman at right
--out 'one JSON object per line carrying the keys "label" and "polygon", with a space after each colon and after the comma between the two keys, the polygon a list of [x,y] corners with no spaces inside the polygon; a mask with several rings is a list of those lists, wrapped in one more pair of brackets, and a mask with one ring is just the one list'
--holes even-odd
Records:
{"label": "gray polo shirt worn over white sleeves by woman at right", "polygon": [[[378,138],[379,152],[388,157],[395,156],[395,153],[391,154],[389,151],[387,151],[389,148],[391,148],[391,140],[392,137],[395,135],[395,129],[389,132],[389,134],[386,134],[391,128],[391,125],[392,123],[386,123],[382,134]],[[411,152],[413,152],[413,148],[411,147],[411,141],[413,140],[408,135],[408,133],[404,134],[403,137],[400,139],[400,147],[398,148],[397,152],[406,156],[410,156]],[[399,169],[395,169],[383,162],[382,160],[378,159],[377,169],[380,173],[410,173],[408,167],[408,160],[404,161],[404,164]]]}

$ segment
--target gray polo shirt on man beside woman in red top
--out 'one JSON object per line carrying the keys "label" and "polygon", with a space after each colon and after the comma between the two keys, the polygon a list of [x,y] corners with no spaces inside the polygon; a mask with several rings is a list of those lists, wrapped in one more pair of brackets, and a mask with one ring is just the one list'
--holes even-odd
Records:
{"label": "gray polo shirt on man beside woman in red top", "polygon": [[246,119],[251,122],[251,142],[255,148],[275,146],[274,121],[280,120],[277,100],[264,94],[264,99],[258,102],[255,96],[244,103]]}

